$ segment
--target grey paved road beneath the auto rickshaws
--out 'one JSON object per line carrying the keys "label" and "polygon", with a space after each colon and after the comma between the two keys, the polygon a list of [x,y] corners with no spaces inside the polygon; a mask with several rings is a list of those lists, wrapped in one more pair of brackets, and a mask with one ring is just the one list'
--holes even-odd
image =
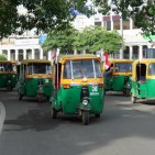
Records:
{"label": "grey paved road beneath the auto rickshaws", "polygon": [[155,104],[132,104],[109,93],[100,119],[82,125],[76,117],[51,119],[49,104],[18,100],[15,91],[0,91],[5,120],[0,155],[154,155]]}

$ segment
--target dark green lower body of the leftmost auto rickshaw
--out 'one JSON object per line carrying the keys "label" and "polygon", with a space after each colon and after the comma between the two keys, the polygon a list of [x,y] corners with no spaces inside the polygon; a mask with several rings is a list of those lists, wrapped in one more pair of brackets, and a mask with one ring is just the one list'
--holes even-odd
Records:
{"label": "dark green lower body of the leftmost auto rickshaw", "polygon": [[7,88],[8,79],[11,80],[12,88],[16,86],[16,74],[0,74],[0,88]]}

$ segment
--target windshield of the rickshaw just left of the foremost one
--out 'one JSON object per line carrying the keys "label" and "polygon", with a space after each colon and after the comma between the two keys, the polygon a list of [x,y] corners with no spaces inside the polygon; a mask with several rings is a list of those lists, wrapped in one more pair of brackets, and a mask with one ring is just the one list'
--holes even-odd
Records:
{"label": "windshield of the rickshaw just left of the foremost one", "polygon": [[29,75],[33,74],[52,74],[52,66],[47,63],[31,63],[27,65]]}

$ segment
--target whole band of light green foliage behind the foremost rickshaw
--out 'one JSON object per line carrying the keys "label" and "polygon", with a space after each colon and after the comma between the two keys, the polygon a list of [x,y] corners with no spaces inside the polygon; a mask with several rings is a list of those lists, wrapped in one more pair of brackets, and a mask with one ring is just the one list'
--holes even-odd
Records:
{"label": "whole band of light green foliage behind the foremost rickshaw", "polygon": [[121,47],[121,36],[115,31],[109,32],[100,26],[86,27],[81,32],[68,27],[64,31],[52,31],[42,47],[45,52],[60,47],[65,53],[74,49],[86,49],[87,53],[103,49],[115,53]]}

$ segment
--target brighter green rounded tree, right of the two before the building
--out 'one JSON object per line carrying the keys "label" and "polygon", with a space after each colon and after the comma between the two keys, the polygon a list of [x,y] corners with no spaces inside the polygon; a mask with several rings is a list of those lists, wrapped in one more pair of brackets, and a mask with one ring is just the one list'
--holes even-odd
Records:
{"label": "brighter green rounded tree, right of the two before the building", "polygon": [[79,32],[74,45],[78,51],[86,49],[88,53],[100,49],[117,53],[121,48],[121,35],[118,32],[110,32],[100,26],[90,26]]}

